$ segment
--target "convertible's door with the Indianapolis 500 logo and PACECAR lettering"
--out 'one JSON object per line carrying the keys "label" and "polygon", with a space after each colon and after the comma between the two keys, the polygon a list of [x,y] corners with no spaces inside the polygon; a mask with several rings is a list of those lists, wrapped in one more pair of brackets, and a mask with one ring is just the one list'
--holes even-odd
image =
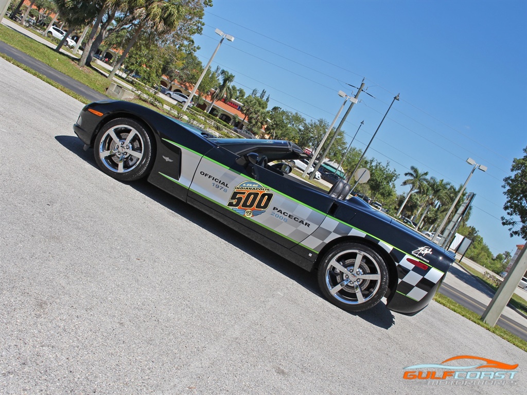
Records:
{"label": "convertible's door with the Indianapolis 500 logo and PACECAR lettering", "polygon": [[259,165],[240,165],[237,159],[222,147],[207,153],[190,185],[189,203],[206,205],[289,249],[326,218],[333,203],[326,193]]}

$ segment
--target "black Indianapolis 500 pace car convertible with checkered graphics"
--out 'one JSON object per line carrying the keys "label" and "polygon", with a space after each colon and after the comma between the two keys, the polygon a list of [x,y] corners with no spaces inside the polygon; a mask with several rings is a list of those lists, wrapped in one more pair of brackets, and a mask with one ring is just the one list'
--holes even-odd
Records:
{"label": "black Indianapolis 500 pace car convertible with checkered graphics", "polygon": [[248,235],[302,268],[318,272],[325,297],[360,311],[386,297],[413,314],[426,307],[454,257],[430,240],[350,197],[293,176],[288,161],[307,154],[288,141],[218,139],[146,107],[86,105],[73,126],[101,170],[148,181]]}

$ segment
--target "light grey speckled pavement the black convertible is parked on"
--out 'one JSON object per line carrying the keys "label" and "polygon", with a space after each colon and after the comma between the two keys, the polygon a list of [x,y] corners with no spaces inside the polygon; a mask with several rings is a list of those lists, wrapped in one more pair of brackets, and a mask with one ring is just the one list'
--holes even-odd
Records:
{"label": "light grey speckled pavement the black convertible is parked on", "polygon": [[525,352],[443,306],[341,311],[312,274],[104,175],[72,132],[83,104],[2,59],[0,97],[3,393],[495,394],[403,378],[463,355],[519,363],[500,392],[524,392]]}

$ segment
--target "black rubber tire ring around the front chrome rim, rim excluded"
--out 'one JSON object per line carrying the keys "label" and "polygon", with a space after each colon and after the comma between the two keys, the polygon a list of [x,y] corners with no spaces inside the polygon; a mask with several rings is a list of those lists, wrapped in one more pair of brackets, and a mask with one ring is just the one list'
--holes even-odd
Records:
{"label": "black rubber tire ring around the front chrome rim, rim excluded", "polygon": [[[130,127],[133,127],[138,133],[141,135],[141,138],[143,139],[143,157],[141,158],[139,164],[135,167],[135,169],[126,172],[126,173],[118,173],[115,171],[112,171],[106,167],[106,165],[102,162],[100,156],[99,156],[99,147],[101,145],[101,140],[104,134],[111,129],[114,126],[117,125],[128,125]],[[152,133],[141,123],[131,120],[129,118],[116,118],[106,124],[104,124],[101,129],[99,130],[99,133],[97,133],[97,136],[95,137],[95,141],[93,144],[93,154],[95,157],[95,162],[97,163],[97,166],[103,171],[103,173],[108,174],[112,178],[119,180],[119,181],[135,181],[139,180],[142,177],[148,175],[150,173],[150,170],[153,166],[154,162],[154,155],[153,155],[153,135]]]}

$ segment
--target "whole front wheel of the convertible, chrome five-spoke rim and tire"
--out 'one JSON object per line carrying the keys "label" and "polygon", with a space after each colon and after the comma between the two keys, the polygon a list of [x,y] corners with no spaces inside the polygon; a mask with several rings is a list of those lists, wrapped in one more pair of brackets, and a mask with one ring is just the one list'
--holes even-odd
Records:
{"label": "whole front wheel of the convertible, chrome five-spoke rim and tire", "polygon": [[152,133],[140,123],[117,118],[103,125],[95,137],[95,162],[116,180],[139,180],[152,169],[154,144]]}

